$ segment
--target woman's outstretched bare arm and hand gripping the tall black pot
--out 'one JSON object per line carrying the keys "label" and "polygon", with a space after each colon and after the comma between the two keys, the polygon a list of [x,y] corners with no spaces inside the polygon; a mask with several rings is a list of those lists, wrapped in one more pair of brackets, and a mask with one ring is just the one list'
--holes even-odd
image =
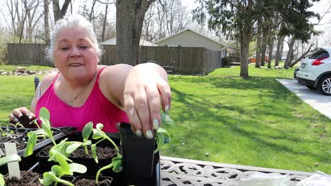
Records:
{"label": "woman's outstretched bare arm and hand gripping the tall black pot", "polygon": [[155,63],[142,63],[133,68],[114,65],[104,71],[99,80],[101,91],[108,92],[105,96],[126,111],[133,132],[152,138],[153,128],[161,125],[161,104],[165,112],[170,109],[171,90],[165,70]]}

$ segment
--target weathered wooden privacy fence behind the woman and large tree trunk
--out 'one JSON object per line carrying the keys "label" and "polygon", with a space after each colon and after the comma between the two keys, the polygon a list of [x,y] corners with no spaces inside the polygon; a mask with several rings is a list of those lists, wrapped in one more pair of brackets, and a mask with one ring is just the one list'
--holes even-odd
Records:
{"label": "weathered wooden privacy fence behind the woman and large tree trunk", "polygon": [[[45,56],[43,44],[16,44],[8,43],[9,64],[50,65]],[[104,54],[100,58],[103,65],[116,63],[116,46],[103,45]],[[212,51],[206,48],[168,47],[168,46],[141,46],[138,63],[157,61],[161,66],[170,65],[175,61],[176,74],[208,74],[221,67],[221,59],[225,56],[225,49]]]}

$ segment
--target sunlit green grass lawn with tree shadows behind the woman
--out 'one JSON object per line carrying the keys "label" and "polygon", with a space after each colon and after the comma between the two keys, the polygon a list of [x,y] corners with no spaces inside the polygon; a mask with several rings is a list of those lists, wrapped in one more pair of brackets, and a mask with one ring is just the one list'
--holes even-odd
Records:
{"label": "sunlit green grass lawn with tree shadows behind the woman", "polygon": [[[175,125],[164,127],[181,144],[162,155],[331,174],[330,119],[275,80],[292,79],[294,69],[250,65],[248,79],[239,71],[169,77]],[[0,121],[6,122],[14,107],[30,105],[33,77],[0,76],[0,89]]]}

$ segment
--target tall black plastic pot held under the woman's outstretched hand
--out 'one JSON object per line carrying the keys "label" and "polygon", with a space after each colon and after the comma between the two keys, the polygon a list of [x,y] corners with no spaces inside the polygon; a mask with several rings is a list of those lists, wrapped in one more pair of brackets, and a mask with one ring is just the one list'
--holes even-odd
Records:
{"label": "tall black plastic pot held under the woman's outstretched hand", "polygon": [[123,167],[131,185],[159,185],[159,153],[154,154],[155,138],[135,135],[128,123],[119,127]]}

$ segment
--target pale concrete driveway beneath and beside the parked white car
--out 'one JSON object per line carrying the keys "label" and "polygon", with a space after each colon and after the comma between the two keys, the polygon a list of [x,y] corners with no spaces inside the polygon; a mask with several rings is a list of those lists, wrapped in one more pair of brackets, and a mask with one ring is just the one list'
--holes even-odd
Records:
{"label": "pale concrete driveway beneath and beside the parked white car", "polygon": [[324,96],[319,93],[318,90],[310,90],[305,85],[301,85],[294,79],[276,79],[288,88],[288,90],[294,92],[300,99],[308,103],[315,110],[321,112],[328,118],[331,118],[331,96]]}

